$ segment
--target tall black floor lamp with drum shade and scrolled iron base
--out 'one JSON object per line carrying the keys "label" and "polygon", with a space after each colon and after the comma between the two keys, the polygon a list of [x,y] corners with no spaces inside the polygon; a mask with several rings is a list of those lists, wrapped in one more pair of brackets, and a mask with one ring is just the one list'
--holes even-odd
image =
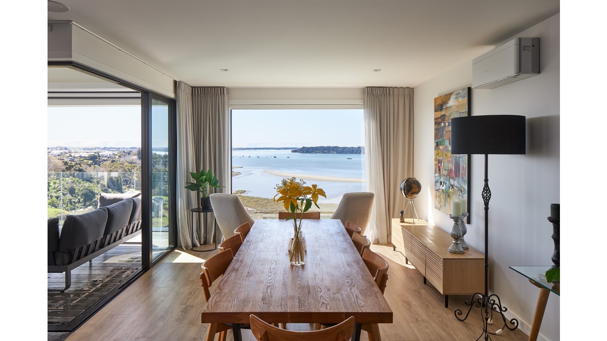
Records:
{"label": "tall black floor lamp with drum shade and scrolled iron base", "polygon": [[[470,308],[463,319],[461,309],[455,309],[455,317],[464,321],[468,318],[472,306],[484,309],[483,333],[485,340],[491,340],[490,335],[500,334],[504,327],[510,330],[517,329],[518,320],[506,320],[505,306],[501,305],[500,297],[489,295],[489,177],[487,177],[487,164],[489,154],[525,154],[525,116],[518,115],[483,115],[464,116],[451,120],[451,154],[484,154],[485,155],[485,185],[483,186],[483,202],[485,204],[485,291],[476,292],[466,305]],[[493,322],[493,312],[497,312],[504,322],[501,329],[495,332],[488,327]],[[483,314],[483,311],[481,311]]]}

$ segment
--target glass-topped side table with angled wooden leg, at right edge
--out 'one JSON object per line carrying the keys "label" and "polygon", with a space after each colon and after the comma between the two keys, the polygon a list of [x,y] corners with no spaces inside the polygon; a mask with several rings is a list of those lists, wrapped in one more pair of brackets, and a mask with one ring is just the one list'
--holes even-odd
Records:
{"label": "glass-topped side table with angled wooden leg, at right edge", "polygon": [[554,292],[557,295],[561,295],[561,283],[548,283],[544,274],[550,265],[544,266],[510,266],[510,269],[518,272],[518,274],[526,277],[532,285],[540,288],[540,295],[537,299],[537,305],[535,306],[535,313],[533,316],[533,322],[531,324],[531,331],[529,332],[529,341],[537,340],[537,336],[540,333],[541,320],[544,317],[544,311],[546,311],[546,303],[548,303],[548,295],[550,292]]}

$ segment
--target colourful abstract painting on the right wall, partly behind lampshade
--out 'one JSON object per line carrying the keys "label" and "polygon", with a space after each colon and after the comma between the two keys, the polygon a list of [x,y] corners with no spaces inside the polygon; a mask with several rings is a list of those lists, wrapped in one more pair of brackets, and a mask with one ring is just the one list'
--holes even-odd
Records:
{"label": "colourful abstract painting on the right wall, partly behind lampshade", "polygon": [[451,201],[468,197],[468,155],[451,155],[451,119],[470,114],[470,88],[434,99],[434,208],[451,213]]}

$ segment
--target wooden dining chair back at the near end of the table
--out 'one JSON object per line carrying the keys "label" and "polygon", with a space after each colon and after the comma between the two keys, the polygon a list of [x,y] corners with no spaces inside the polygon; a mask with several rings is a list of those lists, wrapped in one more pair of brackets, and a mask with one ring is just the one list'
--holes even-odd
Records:
{"label": "wooden dining chair back at the near end of the table", "polygon": [[350,340],[354,333],[353,316],[338,325],[318,331],[290,331],[276,328],[253,314],[249,316],[249,323],[253,336],[260,341],[346,341]]}

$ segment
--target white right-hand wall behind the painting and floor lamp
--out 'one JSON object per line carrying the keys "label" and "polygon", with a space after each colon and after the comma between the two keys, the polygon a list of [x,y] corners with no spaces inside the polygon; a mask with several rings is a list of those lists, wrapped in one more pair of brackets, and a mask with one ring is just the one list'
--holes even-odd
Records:
{"label": "white right-hand wall behind the painting and floor lamp", "polygon": [[[552,265],[550,204],[560,203],[560,14],[512,37],[540,37],[540,75],[495,89],[472,89],[472,115],[527,117],[526,155],[489,155],[489,291],[500,296],[529,334],[539,289],[508,267]],[[510,38],[510,39],[512,39]],[[510,40],[507,39],[507,40]],[[416,201],[420,217],[450,231],[453,221],[434,209],[433,99],[472,85],[472,60],[415,87],[415,167],[424,191]],[[466,241],[484,250],[484,204],[481,198],[484,156],[472,155],[470,214]],[[566,208],[565,208],[566,209]],[[453,299],[467,299],[453,297]],[[469,319],[480,318],[476,313]],[[455,319],[455,317],[454,317]],[[504,333],[508,333],[505,331]],[[540,340],[560,339],[560,297],[551,294]]]}

